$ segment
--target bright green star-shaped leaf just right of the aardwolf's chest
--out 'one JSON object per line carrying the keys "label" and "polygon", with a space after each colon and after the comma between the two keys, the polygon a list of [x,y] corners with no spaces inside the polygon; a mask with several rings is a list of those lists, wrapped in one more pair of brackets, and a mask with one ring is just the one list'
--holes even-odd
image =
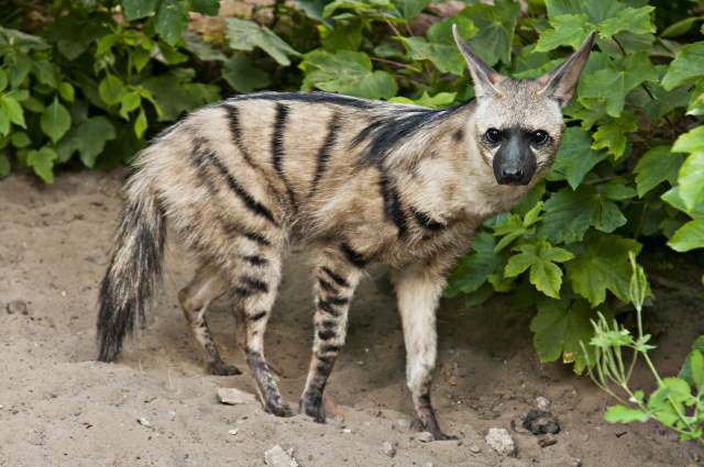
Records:
{"label": "bright green star-shaped leaf just right of the aardwolf's chest", "polygon": [[550,245],[544,238],[536,244],[524,244],[521,252],[508,259],[505,277],[516,277],[530,268],[530,283],[548,297],[560,298],[562,269],[554,263],[564,263],[574,258],[566,249]]}

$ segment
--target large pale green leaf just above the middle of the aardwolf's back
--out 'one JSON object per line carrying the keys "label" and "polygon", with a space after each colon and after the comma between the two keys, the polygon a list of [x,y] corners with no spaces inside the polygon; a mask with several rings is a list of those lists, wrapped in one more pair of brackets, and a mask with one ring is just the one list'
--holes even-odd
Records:
{"label": "large pale green leaf just above the middle of the aardwolf's back", "polygon": [[372,62],[362,52],[316,49],[304,58],[304,89],[318,88],[367,99],[389,99],[396,94],[394,77],[372,70]]}

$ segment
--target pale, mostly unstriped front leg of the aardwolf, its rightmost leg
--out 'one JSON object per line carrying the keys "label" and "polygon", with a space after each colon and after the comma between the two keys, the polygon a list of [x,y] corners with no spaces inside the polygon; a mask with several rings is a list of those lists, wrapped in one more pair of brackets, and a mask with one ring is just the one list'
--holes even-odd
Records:
{"label": "pale, mostly unstriped front leg of the aardwolf, its rightmost leg", "polygon": [[395,275],[406,343],[406,379],[422,426],[436,440],[457,440],[440,431],[430,404],[431,374],[436,367],[438,341],[436,308],[444,287],[444,277],[433,266],[415,264]]}

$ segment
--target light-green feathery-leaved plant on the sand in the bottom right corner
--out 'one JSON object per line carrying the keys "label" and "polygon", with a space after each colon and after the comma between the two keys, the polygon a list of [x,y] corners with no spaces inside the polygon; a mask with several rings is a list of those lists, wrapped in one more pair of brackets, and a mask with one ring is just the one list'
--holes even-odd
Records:
{"label": "light-green feathery-leaved plant on the sand in the bottom right corner", "polygon": [[[634,254],[629,255],[629,260],[632,275],[628,298],[636,308],[638,335],[631,335],[615,320],[607,320],[600,313],[596,321],[592,320],[594,337],[588,344],[590,348],[582,344],[590,377],[596,386],[620,402],[607,408],[604,419],[610,423],[657,420],[678,432],[681,441],[697,440],[704,443],[704,336],[694,342],[676,378],[660,376],[649,355],[656,347],[648,344],[650,334],[644,334],[642,331],[641,312],[648,293],[648,280],[642,267],[636,264]],[[632,351],[630,362],[624,355],[626,349]],[[646,363],[657,381],[657,389],[648,396],[642,390],[630,388],[630,377],[639,358]]]}

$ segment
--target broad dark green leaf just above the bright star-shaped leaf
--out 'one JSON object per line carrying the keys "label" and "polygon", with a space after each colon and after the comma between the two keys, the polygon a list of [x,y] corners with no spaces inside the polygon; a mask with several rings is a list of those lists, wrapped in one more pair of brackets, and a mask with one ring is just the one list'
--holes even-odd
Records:
{"label": "broad dark green leaf just above the bright star-shaped leaf", "polygon": [[557,191],[546,201],[544,213],[538,235],[553,244],[579,242],[590,226],[613,232],[626,223],[616,203],[588,185]]}

